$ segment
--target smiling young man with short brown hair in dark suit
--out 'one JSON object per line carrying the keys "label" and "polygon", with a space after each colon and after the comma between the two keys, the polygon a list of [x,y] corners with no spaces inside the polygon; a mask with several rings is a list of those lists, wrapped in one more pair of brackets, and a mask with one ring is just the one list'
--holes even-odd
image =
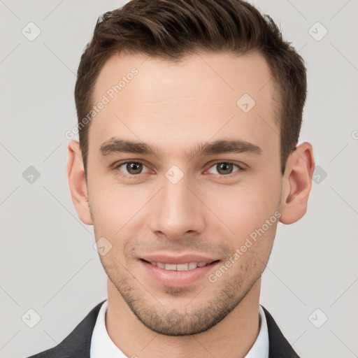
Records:
{"label": "smiling young man with short brown hair in dark suit", "polygon": [[108,275],[33,357],[299,357],[259,305],[278,222],[306,213],[306,69],[241,0],[129,1],[80,61],[74,206]]}

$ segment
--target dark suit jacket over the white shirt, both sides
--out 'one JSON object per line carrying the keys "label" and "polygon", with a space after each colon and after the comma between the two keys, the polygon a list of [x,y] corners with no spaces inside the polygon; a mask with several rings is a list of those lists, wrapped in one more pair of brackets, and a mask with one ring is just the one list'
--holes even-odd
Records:
{"label": "dark suit jacket over the white shirt, both sides", "polygon": [[[94,324],[96,324],[97,315],[103,302],[94,307],[61,343],[28,358],[90,358]],[[268,328],[268,358],[299,358],[266,308],[264,308],[264,313]]]}

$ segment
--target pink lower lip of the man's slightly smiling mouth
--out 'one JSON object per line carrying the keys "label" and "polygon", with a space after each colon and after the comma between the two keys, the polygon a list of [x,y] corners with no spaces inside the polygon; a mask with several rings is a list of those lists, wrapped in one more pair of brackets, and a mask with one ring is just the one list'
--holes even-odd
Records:
{"label": "pink lower lip of the man's slightly smiling mouth", "polygon": [[218,262],[213,262],[203,267],[193,268],[192,270],[174,271],[154,266],[143,260],[140,260],[140,262],[152,278],[161,282],[163,285],[170,287],[184,287],[190,285],[208,275],[209,271],[213,269],[213,266],[218,264]]}

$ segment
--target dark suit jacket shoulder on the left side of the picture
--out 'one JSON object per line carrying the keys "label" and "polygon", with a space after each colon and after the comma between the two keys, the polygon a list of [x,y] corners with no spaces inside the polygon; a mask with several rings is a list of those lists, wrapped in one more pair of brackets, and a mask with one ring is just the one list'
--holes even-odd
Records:
{"label": "dark suit jacket shoulder on the left side of the picture", "polygon": [[53,348],[27,358],[89,358],[96,319],[103,302],[98,303],[64,340]]}

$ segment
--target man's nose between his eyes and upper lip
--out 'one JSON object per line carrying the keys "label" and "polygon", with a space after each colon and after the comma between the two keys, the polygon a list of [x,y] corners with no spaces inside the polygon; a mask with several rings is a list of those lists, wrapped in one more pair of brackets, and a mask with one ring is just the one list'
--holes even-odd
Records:
{"label": "man's nose between his eyes and upper lip", "polygon": [[203,194],[184,176],[173,184],[164,177],[163,187],[152,200],[150,229],[157,236],[180,240],[183,236],[201,234],[205,227],[206,206]]}

